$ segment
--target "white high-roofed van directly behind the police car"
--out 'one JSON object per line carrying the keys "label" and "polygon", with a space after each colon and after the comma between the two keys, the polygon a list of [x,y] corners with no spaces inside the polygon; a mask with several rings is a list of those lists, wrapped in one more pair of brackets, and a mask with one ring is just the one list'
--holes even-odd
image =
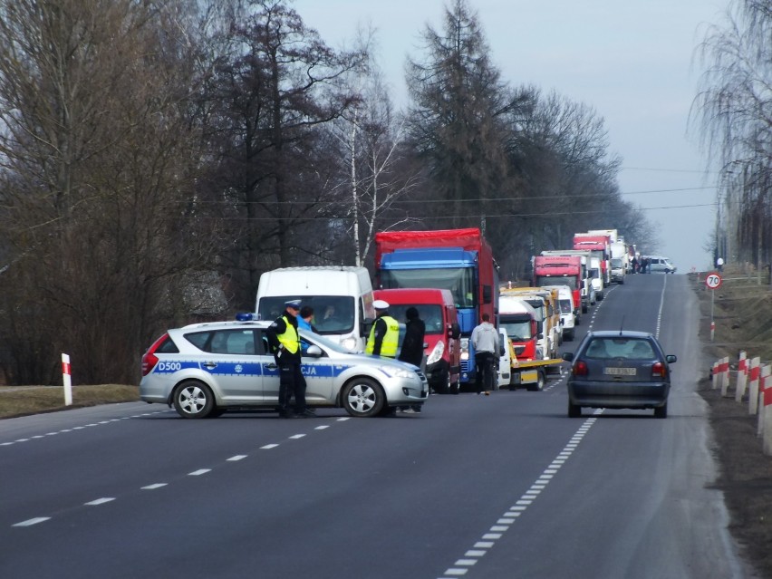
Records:
{"label": "white high-roofed van directly behind the police car", "polygon": [[314,308],[317,333],[352,351],[364,351],[365,320],[375,319],[366,267],[280,267],[265,272],[257,285],[257,319],[275,320],[285,311],[285,302],[297,299]]}

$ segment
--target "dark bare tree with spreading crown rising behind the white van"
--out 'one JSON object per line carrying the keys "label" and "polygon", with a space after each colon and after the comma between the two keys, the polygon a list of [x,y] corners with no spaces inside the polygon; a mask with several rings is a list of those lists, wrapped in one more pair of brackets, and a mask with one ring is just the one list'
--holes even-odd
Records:
{"label": "dark bare tree with spreading crown rising behind the white van", "polygon": [[356,101],[343,75],[362,55],[333,51],[282,0],[250,0],[230,18],[208,93],[217,169],[207,195],[227,216],[223,265],[246,304],[265,269],[318,249],[309,232],[329,193],[320,127]]}

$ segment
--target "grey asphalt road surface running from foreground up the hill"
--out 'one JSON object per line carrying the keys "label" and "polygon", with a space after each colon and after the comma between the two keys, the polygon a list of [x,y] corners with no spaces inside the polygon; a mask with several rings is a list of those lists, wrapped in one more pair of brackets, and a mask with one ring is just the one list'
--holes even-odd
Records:
{"label": "grey asphalt road surface running from foreground up the hill", "polygon": [[183,420],[119,404],[0,420],[0,577],[748,576],[711,489],[685,276],[634,275],[584,316],[657,333],[669,417],[545,391],[421,414]]}

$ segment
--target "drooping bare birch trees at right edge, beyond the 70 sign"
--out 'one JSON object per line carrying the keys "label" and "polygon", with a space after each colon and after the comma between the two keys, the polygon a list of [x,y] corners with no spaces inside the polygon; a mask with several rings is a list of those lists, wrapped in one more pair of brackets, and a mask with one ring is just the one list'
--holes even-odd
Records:
{"label": "drooping bare birch trees at right edge, beyond the 70 sign", "polygon": [[693,121],[719,167],[714,259],[772,262],[772,5],[735,0],[700,45]]}

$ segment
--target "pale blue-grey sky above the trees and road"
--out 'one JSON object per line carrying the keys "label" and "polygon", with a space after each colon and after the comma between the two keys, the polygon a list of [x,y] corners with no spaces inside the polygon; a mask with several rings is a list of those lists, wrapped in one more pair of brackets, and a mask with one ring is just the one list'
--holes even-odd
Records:
{"label": "pale blue-grey sky above the trees and road", "polygon": [[[555,90],[603,117],[623,159],[624,198],[658,224],[657,253],[679,273],[706,269],[716,189],[688,124],[700,63],[695,48],[729,0],[470,0],[502,80]],[[334,47],[358,25],[377,31],[394,101],[406,101],[404,63],[420,56],[420,31],[441,30],[442,0],[294,0],[305,24]],[[608,228],[615,227],[609,223]]]}

